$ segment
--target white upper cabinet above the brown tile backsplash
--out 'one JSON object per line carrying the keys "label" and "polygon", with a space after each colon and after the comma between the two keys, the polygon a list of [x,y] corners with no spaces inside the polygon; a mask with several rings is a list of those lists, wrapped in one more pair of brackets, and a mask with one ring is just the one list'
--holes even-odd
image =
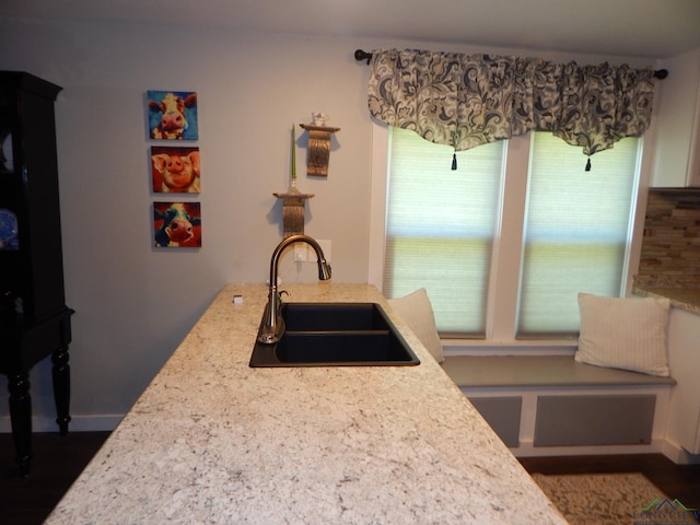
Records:
{"label": "white upper cabinet above the brown tile backsplash", "polygon": [[652,187],[700,187],[700,48],[660,60]]}

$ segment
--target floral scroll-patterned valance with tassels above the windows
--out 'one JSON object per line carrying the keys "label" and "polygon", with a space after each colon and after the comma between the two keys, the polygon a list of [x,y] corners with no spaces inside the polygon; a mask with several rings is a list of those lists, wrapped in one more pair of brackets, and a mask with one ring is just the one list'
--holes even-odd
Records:
{"label": "floral scroll-patterned valance with tassels above the windows", "polygon": [[592,155],[651,120],[651,69],[411,49],[374,50],[371,68],[375,118],[455,151],[538,130]]}

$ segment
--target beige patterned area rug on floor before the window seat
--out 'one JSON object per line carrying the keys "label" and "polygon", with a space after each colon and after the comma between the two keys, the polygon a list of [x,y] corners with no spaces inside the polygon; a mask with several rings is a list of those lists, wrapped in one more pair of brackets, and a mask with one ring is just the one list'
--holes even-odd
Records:
{"label": "beige patterned area rug on floor before the window seat", "polygon": [[692,510],[642,474],[575,474],[533,479],[571,525],[696,524]]}

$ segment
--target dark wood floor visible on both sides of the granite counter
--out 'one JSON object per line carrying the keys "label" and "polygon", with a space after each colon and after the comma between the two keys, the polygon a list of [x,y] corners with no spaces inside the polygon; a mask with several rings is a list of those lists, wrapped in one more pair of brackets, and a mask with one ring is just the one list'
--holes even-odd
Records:
{"label": "dark wood floor visible on both sides of the granite counter", "polygon": [[[73,480],[109,435],[71,432],[33,436],[34,460],[28,477],[14,464],[10,434],[0,434],[0,524],[37,525],[44,522]],[[528,472],[642,472],[669,498],[700,509],[700,465],[682,466],[661,454],[521,458]]]}

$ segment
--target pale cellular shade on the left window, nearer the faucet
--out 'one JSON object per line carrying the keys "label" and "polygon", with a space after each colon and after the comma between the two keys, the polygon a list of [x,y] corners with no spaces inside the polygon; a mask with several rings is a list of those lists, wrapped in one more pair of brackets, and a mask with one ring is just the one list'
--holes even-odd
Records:
{"label": "pale cellular shade on the left window, nearer the faucet", "polygon": [[505,141],[457,153],[390,129],[384,293],[425,288],[441,332],[482,335]]}

